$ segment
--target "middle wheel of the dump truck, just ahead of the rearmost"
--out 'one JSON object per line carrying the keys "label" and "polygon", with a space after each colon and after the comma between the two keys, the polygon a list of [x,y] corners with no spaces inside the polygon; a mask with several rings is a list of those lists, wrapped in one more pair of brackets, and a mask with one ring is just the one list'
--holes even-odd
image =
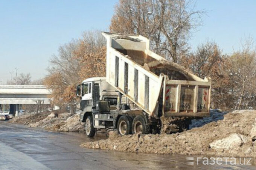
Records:
{"label": "middle wheel of the dump truck, just ahead of the rearmost", "polygon": [[120,135],[128,135],[131,134],[131,125],[133,123],[133,119],[129,116],[121,116],[117,122],[118,133]]}

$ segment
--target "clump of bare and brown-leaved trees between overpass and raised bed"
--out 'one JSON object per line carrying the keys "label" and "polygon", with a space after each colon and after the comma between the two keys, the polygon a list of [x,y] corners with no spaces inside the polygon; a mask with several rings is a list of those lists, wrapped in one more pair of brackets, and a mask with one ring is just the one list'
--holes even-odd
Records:
{"label": "clump of bare and brown-leaved trees between overpass and raised bed", "polygon": [[[105,39],[99,30],[90,30],[82,34],[82,38],[73,39],[61,45],[57,55],[50,59],[49,75],[44,84],[52,89],[53,104],[63,108],[70,106],[75,113],[78,98],[76,86],[88,77],[99,76],[102,63],[105,64]],[[98,74],[101,73],[101,74]]]}

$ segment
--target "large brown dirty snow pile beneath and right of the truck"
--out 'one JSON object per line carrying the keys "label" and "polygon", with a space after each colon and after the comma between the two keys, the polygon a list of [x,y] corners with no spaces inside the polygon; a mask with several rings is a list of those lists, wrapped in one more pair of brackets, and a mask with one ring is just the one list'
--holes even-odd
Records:
{"label": "large brown dirty snow pile beneath and right of the truck", "polygon": [[111,132],[107,140],[87,142],[81,146],[122,152],[255,158],[256,110],[239,110],[222,116],[223,120],[181,133],[120,136]]}

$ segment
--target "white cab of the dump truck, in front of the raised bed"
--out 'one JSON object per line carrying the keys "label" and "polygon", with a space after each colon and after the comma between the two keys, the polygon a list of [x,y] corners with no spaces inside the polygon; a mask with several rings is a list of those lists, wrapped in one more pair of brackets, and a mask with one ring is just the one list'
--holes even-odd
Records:
{"label": "white cab of the dump truck, in front of the raised bed", "polygon": [[[80,120],[87,123],[88,126],[92,124],[93,128],[102,128],[103,126],[99,125],[99,121],[93,121],[95,118],[93,113],[97,109],[103,109],[105,113],[116,109],[118,94],[119,92],[107,83],[105,77],[92,77],[82,81],[76,90],[76,95],[81,98]],[[87,132],[88,136],[94,135],[94,132],[90,134],[90,129]]]}

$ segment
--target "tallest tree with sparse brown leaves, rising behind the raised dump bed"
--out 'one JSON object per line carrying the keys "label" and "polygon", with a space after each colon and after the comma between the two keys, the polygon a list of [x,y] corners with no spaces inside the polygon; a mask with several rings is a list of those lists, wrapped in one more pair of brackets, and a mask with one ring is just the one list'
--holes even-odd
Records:
{"label": "tallest tree with sparse brown leaves, rising behind the raised dump bed", "polygon": [[204,10],[195,10],[192,0],[120,0],[110,31],[146,36],[156,53],[167,51],[167,59],[179,62],[178,57],[189,49],[187,41],[202,24],[204,14]]}

